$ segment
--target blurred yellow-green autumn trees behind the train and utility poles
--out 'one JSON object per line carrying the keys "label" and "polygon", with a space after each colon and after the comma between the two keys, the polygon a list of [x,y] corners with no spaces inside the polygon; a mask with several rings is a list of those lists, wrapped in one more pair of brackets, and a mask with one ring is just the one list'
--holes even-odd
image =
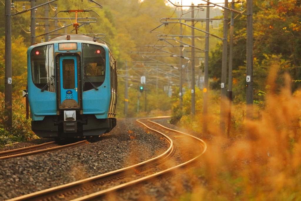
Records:
{"label": "blurred yellow-green autumn trees behind the train and utility poles", "polygon": [[[44,0],[37,0],[36,4],[44,3]],[[12,12],[21,11],[22,7],[29,8],[29,5],[23,2],[14,2],[14,9]],[[95,6],[93,2],[69,0],[69,1],[57,1],[56,4],[52,3],[49,8],[49,17],[53,17],[57,11],[63,11],[68,9],[84,9],[91,6]],[[128,117],[138,117],[144,115],[155,115],[159,113],[170,114],[172,113],[172,122],[181,123],[185,125],[187,122],[192,122],[196,125],[201,125],[197,121],[202,119],[202,88],[196,90],[196,114],[199,118],[192,118],[191,106],[190,106],[190,77],[186,74],[186,69],[191,69],[191,63],[185,61],[184,72],[184,88],[186,92],[184,94],[183,108],[179,107],[178,102],[178,79],[168,76],[168,74],[161,74],[156,70],[147,70],[147,65],[135,64],[131,61],[148,61],[143,59],[141,55],[129,53],[130,51],[145,51],[153,52],[151,47],[144,47],[144,45],[163,45],[166,43],[159,41],[157,35],[174,34],[178,35],[180,30],[179,26],[175,24],[169,24],[160,27],[156,31],[158,33],[149,34],[149,31],[158,25],[160,25],[160,18],[163,17],[180,17],[182,13],[188,12],[188,10],[181,10],[169,6],[167,1],[164,0],[127,0],[120,2],[118,0],[103,0],[100,2],[104,8],[93,8],[100,17],[93,12],[80,13],[79,17],[97,17],[97,23],[91,23],[80,27],[80,33],[104,33],[106,37],[104,40],[107,44],[110,44],[109,48],[113,52],[113,55],[118,62],[118,108],[117,117],[124,117],[124,102],[125,102],[125,63],[128,61],[128,73],[129,73],[129,106]],[[55,7],[57,10],[54,11]],[[235,4],[237,10],[246,9],[246,4]],[[4,13],[4,5],[0,5],[0,11]],[[254,1],[254,100],[256,104],[263,104],[265,96],[259,96],[261,92],[266,93],[266,79],[268,72],[273,63],[279,64],[278,77],[276,79],[277,89],[280,89],[284,85],[284,73],[288,73],[292,80],[299,80],[300,77],[300,64],[301,58],[298,56],[300,52],[300,6],[298,2],[289,0],[281,1]],[[36,17],[44,17],[45,6],[36,10]],[[74,17],[74,13],[59,13],[58,17]],[[234,58],[233,58],[233,93],[234,93],[234,105],[239,105],[237,108],[240,116],[244,116],[244,102],[245,102],[245,74],[246,74],[246,17],[244,15],[235,14],[234,21]],[[256,16],[256,17],[255,17]],[[182,17],[191,17],[191,13],[184,14]],[[205,17],[205,12],[196,11],[195,17]],[[210,8],[210,18],[223,18],[222,10],[218,8]],[[84,20],[87,21],[87,20]],[[230,15],[229,15],[230,22]],[[37,19],[38,25],[43,25],[44,20]],[[68,20],[58,21],[58,27],[63,27],[63,24],[69,24]],[[190,22],[187,22],[188,24]],[[4,17],[0,19],[0,92],[4,93],[4,70],[5,70],[5,39],[4,39]],[[49,30],[54,30],[54,21],[49,22]],[[14,93],[20,94],[21,90],[25,89],[26,80],[26,50],[30,46],[29,38],[29,26],[30,26],[30,12],[12,17],[12,34],[13,34],[13,90]],[[203,23],[197,23],[195,25],[199,29],[205,29]],[[230,24],[229,24],[230,26]],[[58,31],[60,34],[70,33],[73,27],[67,27]],[[45,32],[45,27],[37,26],[36,35]],[[210,26],[210,32],[217,36],[222,36],[222,21],[213,20]],[[183,27],[183,34],[190,35],[191,29]],[[200,32],[196,32],[196,35],[202,36]],[[45,38],[37,37],[36,42],[41,42]],[[51,35],[51,38],[55,37]],[[191,39],[183,38],[186,43],[191,43]],[[205,41],[202,38],[196,39],[196,46],[203,48]],[[178,45],[178,44],[177,44]],[[179,54],[179,51],[183,50],[186,56],[190,57],[190,48],[173,48],[168,51],[175,54]],[[201,58],[202,53],[196,53],[197,57]],[[209,83],[210,83],[210,102],[209,108],[215,108],[210,111],[213,115],[219,115],[219,88],[221,77],[221,59],[222,59],[222,41],[214,37],[210,37],[210,52],[209,52]],[[174,57],[162,57],[160,61],[169,64],[178,64],[178,58]],[[198,63],[199,62],[199,63]],[[196,74],[203,74],[203,60],[196,61]],[[134,70],[139,68],[139,70]],[[177,70],[166,70],[170,73],[175,73]],[[140,77],[145,75],[147,77],[146,84],[144,86],[144,92],[139,92]],[[298,89],[300,82],[292,83],[292,92]],[[145,109],[145,93],[147,94],[147,107]],[[277,90],[276,90],[277,93]],[[15,98],[18,96],[15,96]],[[139,100],[139,104],[138,104]],[[16,99],[14,101],[19,101]],[[236,106],[234,106],[235,108]],[[255,112],[259,111],[263,107],[259,107]],[[22,111],[25,112],[25,111]],[[22,113],[20,111],[20,113]],[[233,111],[234,113],[236,111]],[[255,115],[256,116],[256,115]],[[240,119],[239,125],[244,125],[244,118]],[[213,121],[218,122],[218,118]],[[233,120],[234,121],[234,120]],[[239,122],[239,121],[235,121]],[[200,129],[200,127],[198,127]]]}

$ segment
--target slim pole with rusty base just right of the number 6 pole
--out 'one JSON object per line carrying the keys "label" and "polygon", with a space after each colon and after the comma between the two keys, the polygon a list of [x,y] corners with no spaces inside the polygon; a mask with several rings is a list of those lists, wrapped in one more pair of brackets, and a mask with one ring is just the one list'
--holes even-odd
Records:
{"label": "slim pole with rusty base just right of the number 6 pole", "polygon": [[[234,0],[232,1],[231,8],[234,9]],[[230,129],[231,129],[233,34],[234,34],[234,12],[231,12],[230,50],[229,50],[229,76],[228,76],[228,83],[229,83],[229,84],[228,84],[229,112],[228,112],[228,129],[227,129],[227,137],[230,137]]]}

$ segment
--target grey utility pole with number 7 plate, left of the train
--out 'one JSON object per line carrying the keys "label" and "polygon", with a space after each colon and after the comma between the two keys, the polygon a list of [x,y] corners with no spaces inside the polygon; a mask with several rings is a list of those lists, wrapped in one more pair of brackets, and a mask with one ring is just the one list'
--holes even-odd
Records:
{"label": "grey utility pole with number 7 plate, left of the train", "polygon": [[11,87],[11,1],[5,0],[5,113],[7,115],[6,124],[12,126],[12,87]]}

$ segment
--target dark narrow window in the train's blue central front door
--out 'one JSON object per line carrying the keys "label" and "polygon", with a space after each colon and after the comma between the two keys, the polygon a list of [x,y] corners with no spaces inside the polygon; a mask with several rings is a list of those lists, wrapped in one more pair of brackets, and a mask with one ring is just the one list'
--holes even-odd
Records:
{"label": "dark narrow window in the train's blue central front door", "polygon": [[63,59],[63,88],[73,89],[75,88],[75,69],[74,59]]}

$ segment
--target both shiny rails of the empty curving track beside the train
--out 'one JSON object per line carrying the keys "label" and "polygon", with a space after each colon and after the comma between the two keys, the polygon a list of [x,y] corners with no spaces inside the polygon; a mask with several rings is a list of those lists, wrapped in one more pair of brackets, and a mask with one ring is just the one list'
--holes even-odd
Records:
{"label": "both shiny rails of the empty curving track beside the train", "polygon": [[92,194],[89,194],[89,195],[86,195],[86,196],[82,196],[82,197],[73,199],[72,201],[96,200],[99,197],[102,197],[104,195],[107,195],[107,194],[113,193],[115,191],[122,190],[122,189],[125,189],[125,188],[128,188],[128,187],[134,186],[136,184],[140,184],[140,183],[145,182],[145,181],[149,181],[149,180],[157,178],[157,177],[161,177],[161,176],[166,175],[168,173],[174,172],[178,168],[183,168],[185,166],[188,166],[192,162],[196,161],[206,151],[206,143],[203,140],[201,140],[197,137],[191,136],[191,135],[186,134],[186,133],[182,133],[182,132],[177,131],[177,130],[169,129],[167,127],[162,126],[161,124],[158,124],[158,123],[150,120],[150,119],[168,118],[168,117],[169,116],[156,117],[156,118],[140,118],[140,119],[136,120],[137,122],[144,125],[148,129],[157,132],[162,138],[164,138],[166,140],[166,142],[169,143],[169,148],[163,154],[161,154],[161,155],[159,155],[159,156],[157,156],[153,159],[141,162],[139,164],[129,166],[127,168],[122,168],[122,169],[119,169],[119,170],[116,170],[116,171],[111,171],[111,172],[108,172],[108,173],[105,173],[105,174],[97,175],[97,176],[94,176],[94,177],[90,177],[90,178],[83,179],[83,180],[80,180],[80,181],[72,182],[72,183],[69,183],[69,184],[64,184],[64,185],[61,185],[61,186],[45,189],[45,190],[38,191],[38,192],[35,192],[35,193],[30,193],[30,194],[27,194],[27,195],[24,195],[24,196],[9,199],[7,201],[21,201],[21,200],[22,201],[25,201],[25,200],[26,201],[29,201],[29,200],[35,201],[35,200],[44,200],[44,199],[45,200],[59,199],[62,196],[72,195],[72,194],[75,194],[79,191],[89,189],[89,188],[97,186],[97,185],[102,185],[107,181],[122,179],[122,178],[126,177],[126,175],[133,174],[137,171],[141,172],[145,168],[150,168],[152,166],[158,165],[158,164],[166,161],[175,152],[175,146],[174,146],[173,141],[166,134],[164,134],[164,133],[162,133],[162,132],[160,132],[160,131],[158,131],[154,128],[149,127],[148,125],[141,122],[141,120],[147,120],[148,122],[150,122],[152,124],[156,124],[157,126],[160,126],[163,129],[167,129],[169,131],[184,135],[184,136],[190,138],[191,140],[194,140],[195,142],[197,142],[202,147],[203,151],[200,154],[198,154],[196,157],[194,157],[193,159],[188,160],[187,162],[184,162],[180,165],[176,165],[172,168],[168,168],[168,169],[165,169],[163,171],[157,172],[155,174],[147,175],[147,176],[141,177],[139,179],[129,181],[129,182],[126,182],[126,183],[121,184],[121,185],[117,185],[115,187],[111,187],[111,188],[108,188],[108,189],[105,189],[105,190],[98,191],[96,193],[92,193]]}

